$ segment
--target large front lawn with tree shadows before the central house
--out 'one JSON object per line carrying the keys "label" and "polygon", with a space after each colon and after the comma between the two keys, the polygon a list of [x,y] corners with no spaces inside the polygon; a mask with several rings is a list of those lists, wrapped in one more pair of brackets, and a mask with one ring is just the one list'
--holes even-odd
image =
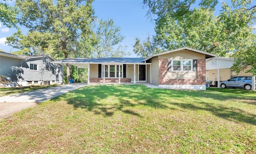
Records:
{"label": "large front lawn with tree shadows before the central house", "polygon": [[86,86],[0,121],[0,153],[256,153],[256,92]]}

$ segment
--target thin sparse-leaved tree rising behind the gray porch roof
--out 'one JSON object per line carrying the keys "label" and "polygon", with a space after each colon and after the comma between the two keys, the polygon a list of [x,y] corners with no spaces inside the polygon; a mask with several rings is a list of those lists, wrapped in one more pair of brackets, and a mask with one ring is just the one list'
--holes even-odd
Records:
{"label": "thin sparse-leaved tree rising behind the gray porch roof", "polygon": [[123,57],[125,55],[129,55],[130,53],[126,53],[126,46],[118,46],[124,39],[124,36],[120,33],[120,27],[114,25],[113,19],[109,19],[107,21],[96,21],[92,25],[93,29],[95,29],[94,33],[91,33],[90,36],[83,35],[83,40],[88,40],[90,38],[90,45],[88,42],[83,41],[86,47],[91,47],[91,52],[94,53],[96,57]]}

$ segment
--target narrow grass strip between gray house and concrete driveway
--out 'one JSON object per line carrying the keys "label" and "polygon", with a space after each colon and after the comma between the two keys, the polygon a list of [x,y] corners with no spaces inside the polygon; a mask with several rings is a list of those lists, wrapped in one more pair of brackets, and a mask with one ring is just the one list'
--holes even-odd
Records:
{"label": "narrow grass strip between gray house and concrete driveway", "polygon": [[57,86],[56,84],[51,86],[39,86],[39,85],[32,85],[32,86],[26,86],[26,87],[16,87],[16,88],[0,88],[0,97],[13,95],[13,94],[19,94],[22,92],[30,92],[33,90],[39,90],[43,88],[49,88]]}

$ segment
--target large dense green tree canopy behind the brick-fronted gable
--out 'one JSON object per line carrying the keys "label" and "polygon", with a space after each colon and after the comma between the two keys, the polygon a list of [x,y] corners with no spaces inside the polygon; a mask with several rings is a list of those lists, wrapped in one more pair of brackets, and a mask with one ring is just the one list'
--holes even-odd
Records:
{"label": "large dense green tree canopy behind the brick-fronted gable", "polygon": [[[144,0],[148,16],[157,16],[153,41],[164,50],[186,46],[219,56],[232,53],[236,58],[236,53],[248,53],[255,43],[252,27],[256,6],[251,0],[222,2],[220,14],[214,16],[217,3],[217,0]],[[198,8],[192,8],[192,4]]]}

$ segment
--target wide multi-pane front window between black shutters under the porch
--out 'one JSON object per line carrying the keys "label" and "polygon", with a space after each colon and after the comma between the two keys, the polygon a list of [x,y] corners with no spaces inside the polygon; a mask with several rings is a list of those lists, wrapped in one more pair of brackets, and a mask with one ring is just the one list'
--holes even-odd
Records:
{"label": "wide multi-pane front window between black shutters under the porch", "polygon": [[120,66],[120,78],[122,78],[122,65],[102,65],[102,78],[105,72],[105,78],[119,78],[119,66]]}

